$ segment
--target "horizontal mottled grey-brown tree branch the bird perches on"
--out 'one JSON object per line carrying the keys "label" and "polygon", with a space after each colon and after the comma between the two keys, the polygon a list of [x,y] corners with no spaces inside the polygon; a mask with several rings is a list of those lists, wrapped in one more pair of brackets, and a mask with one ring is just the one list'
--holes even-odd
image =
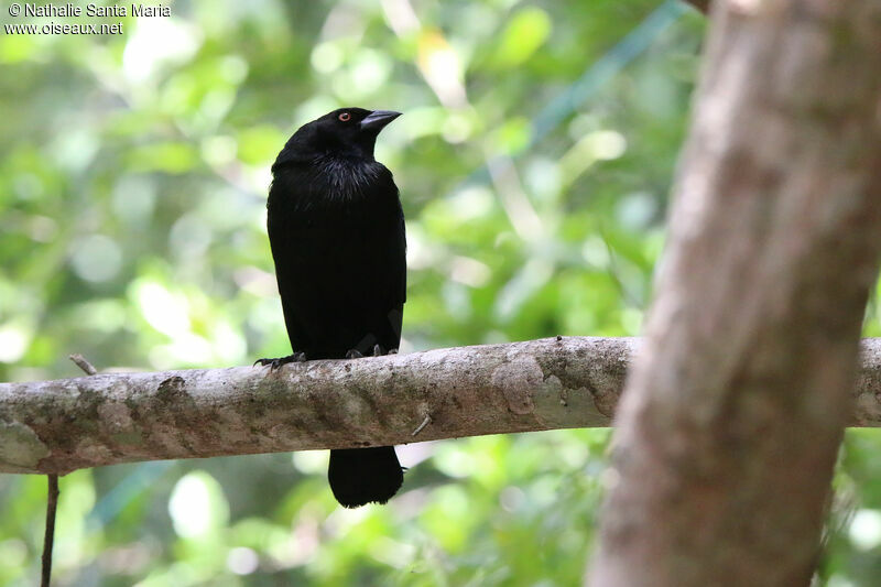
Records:
{"label": "horizontal mottled grey-brown tree branch the bird perches on", "polygon": [[[0,472],[608,426],[635,338],[0,383]],[[881,425],[881,339],[852,421]],[[426,422],[427,421],[427,422]],[[424,424],[424,425],[423,425]],[[421,430],[420,430],[421,427]]]}

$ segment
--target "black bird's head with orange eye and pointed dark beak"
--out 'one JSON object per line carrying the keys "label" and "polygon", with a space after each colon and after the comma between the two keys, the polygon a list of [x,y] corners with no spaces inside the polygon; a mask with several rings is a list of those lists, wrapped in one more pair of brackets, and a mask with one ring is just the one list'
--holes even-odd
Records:
{"label": "black bird's head with orange eye and pointed dark beak", "polygon": [[327,154],[372,160],[377,135],[399,116],[401,112],[363,108],[328,112],[300,127],[284,145],[275,165]]}

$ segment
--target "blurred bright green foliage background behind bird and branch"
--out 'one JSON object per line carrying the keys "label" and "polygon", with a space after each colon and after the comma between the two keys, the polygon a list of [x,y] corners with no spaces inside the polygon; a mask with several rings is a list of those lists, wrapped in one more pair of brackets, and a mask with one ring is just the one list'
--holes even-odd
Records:
{"label": "blurred bright green foliage background behind bird and branch", "polygon": [[[6,4],[3,24],[77,22]],[[128,370],[287,354],[269,167],[340,106],[405,113],[377,148],[407,216],[403,352],[640,333],[704,17],[659,0],[171,8],[89,21],[121,35],[0,33],[0,380],[76,377],[70,352]],[[55,585],[576,585],[608,436],[404,447],[402,493],[355,511],[325,452],[77,471]],[[873,431],[848,433],[818,585],[878,585],[878,454]],[[0,475],[0,585],[36,584],[45,486]]]}

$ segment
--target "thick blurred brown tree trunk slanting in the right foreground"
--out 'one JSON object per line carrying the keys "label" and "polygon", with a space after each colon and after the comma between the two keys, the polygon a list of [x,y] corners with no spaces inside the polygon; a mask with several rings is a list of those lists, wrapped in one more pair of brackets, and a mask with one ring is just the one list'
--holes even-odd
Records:
{"label": "thick blurred brown tree trunk slanting in the right foreground", "polygon": [[714,4],[595,586],[807,585],[881,246],[881,2]]}

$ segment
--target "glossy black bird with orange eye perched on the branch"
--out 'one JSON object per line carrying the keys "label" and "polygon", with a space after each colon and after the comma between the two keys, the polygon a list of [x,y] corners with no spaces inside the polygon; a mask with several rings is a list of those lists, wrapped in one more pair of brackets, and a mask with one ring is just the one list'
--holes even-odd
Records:
{"label": "glossy black bird with orange eye perched on the branch", "polygon": [[[272,165],[269,240],[291,361],[396,352],[406,300],[404,214],[392,173],[373,159],[400,112],[341,108],[301,127]],[[392,446],[330,450],[334,497],[385,503],[403,470]]]}

